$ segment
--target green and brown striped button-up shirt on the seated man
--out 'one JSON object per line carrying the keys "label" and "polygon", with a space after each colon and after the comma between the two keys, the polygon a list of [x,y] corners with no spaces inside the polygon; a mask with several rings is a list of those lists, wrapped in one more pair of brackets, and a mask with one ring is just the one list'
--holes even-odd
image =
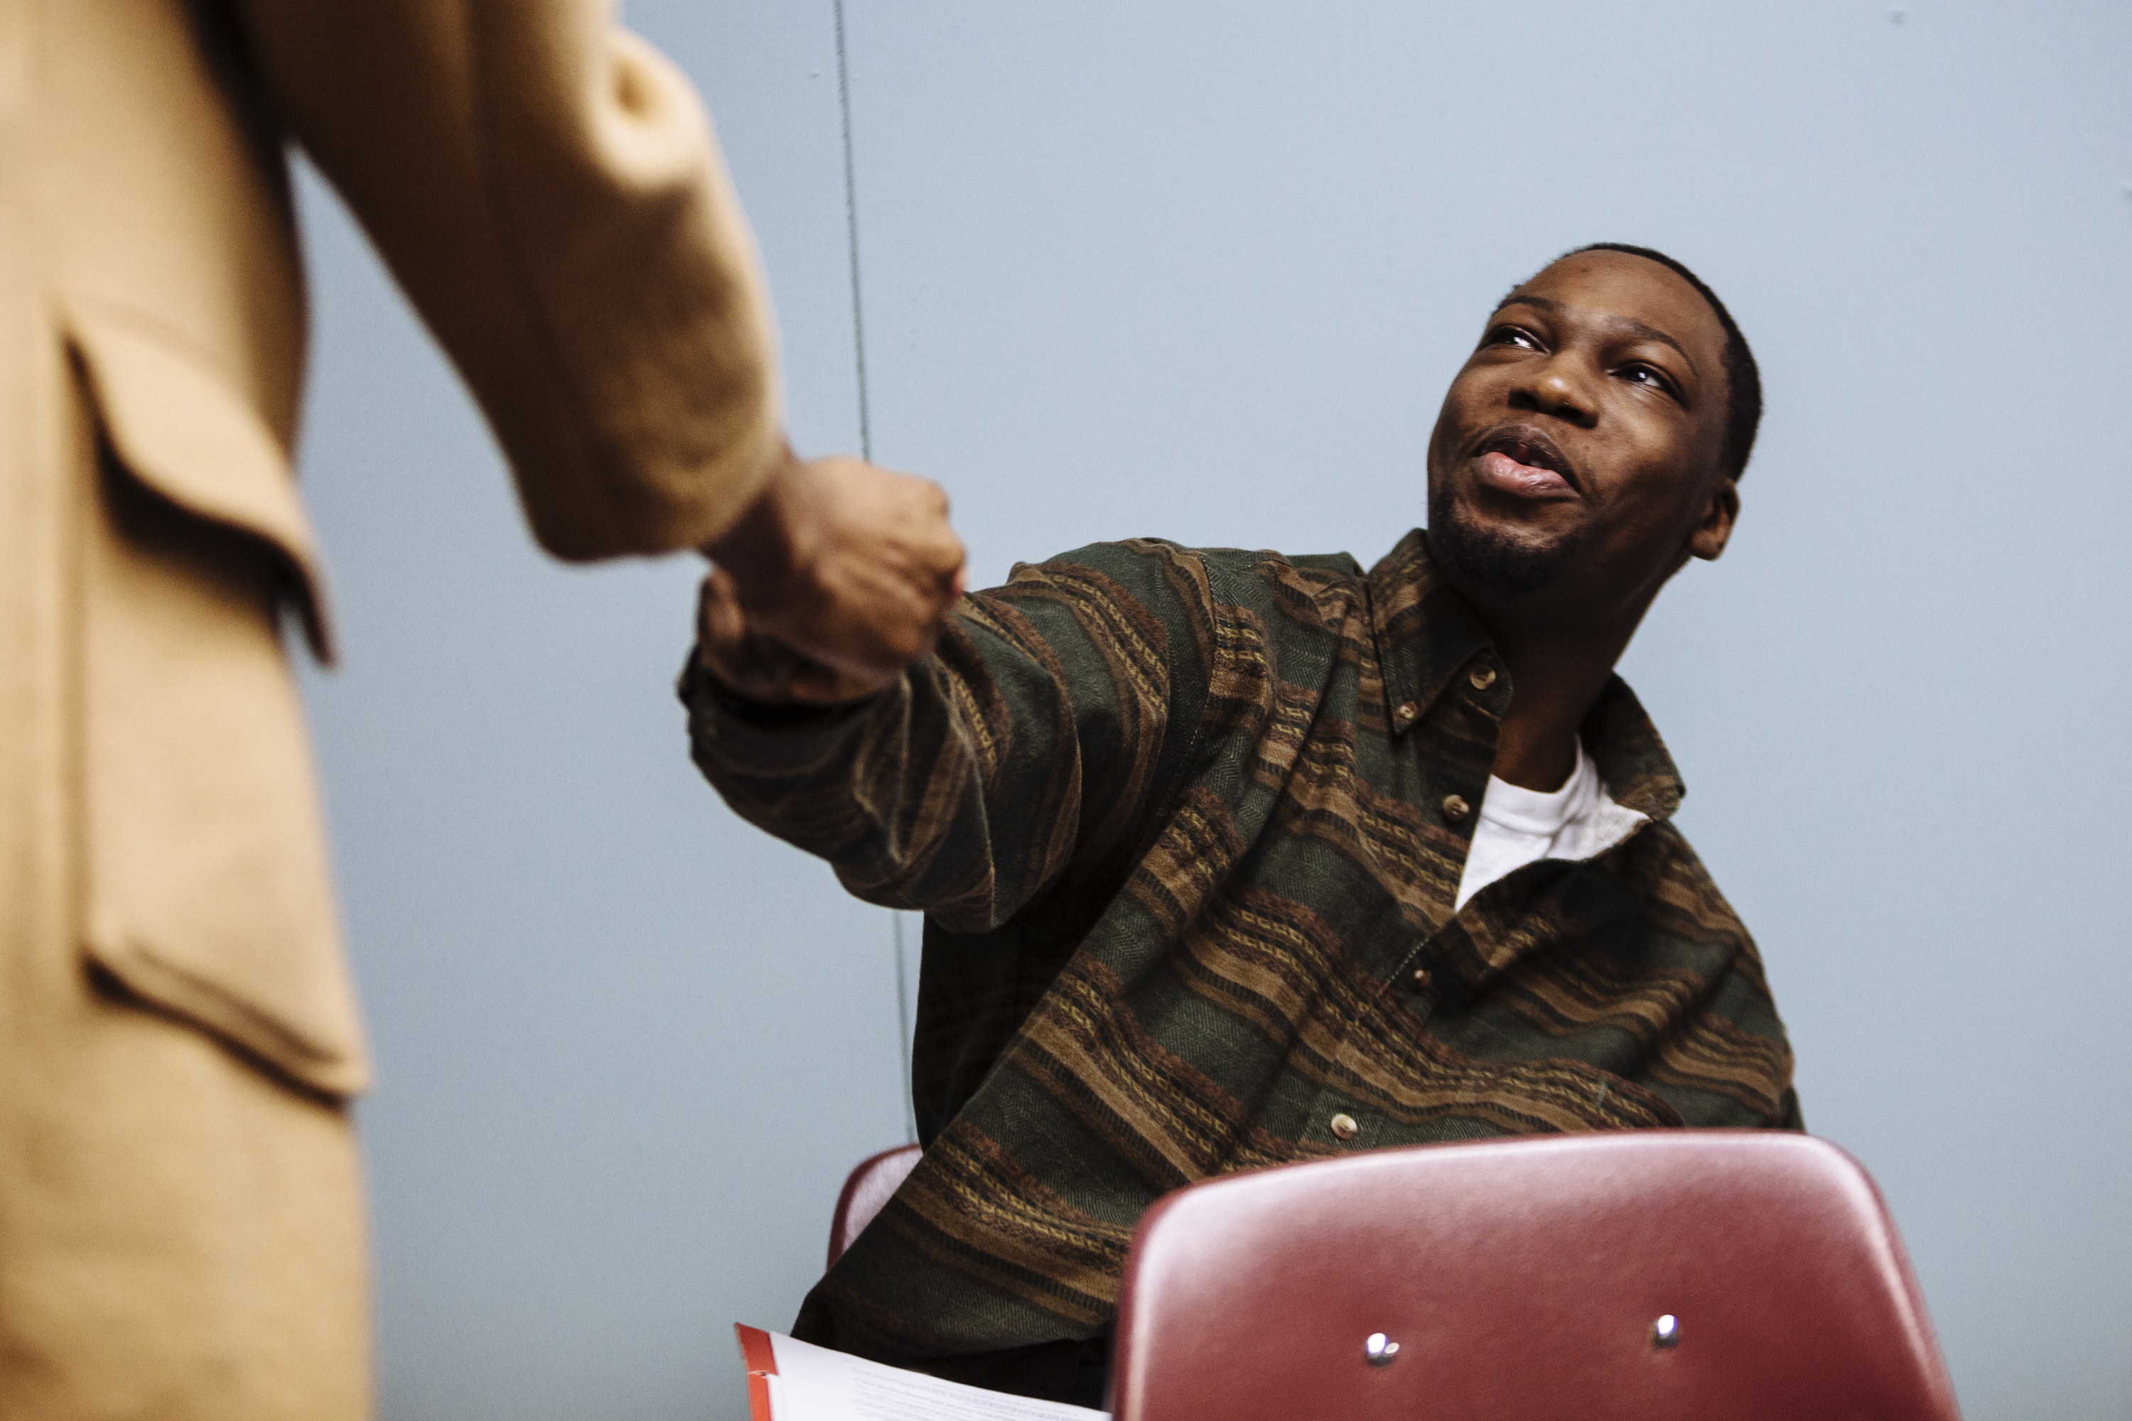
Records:
{"label": "green and brown striped button-up shirt on the seated man", "polygon": [[[1582,726],[1650,816],[1452,912],[1512,686],[1420,533],[1100,543],[968,597],[821,720],[684,675],[744,818],[925,912],[925,1155],[795,1334],[883,1361],[1100,1336],[1141,1212],[1230,1170],[1533,1131],[1791,1125],[1746,929],[1627,684]],[[1335,1116],[1339,1121],[1335,1131]]]}

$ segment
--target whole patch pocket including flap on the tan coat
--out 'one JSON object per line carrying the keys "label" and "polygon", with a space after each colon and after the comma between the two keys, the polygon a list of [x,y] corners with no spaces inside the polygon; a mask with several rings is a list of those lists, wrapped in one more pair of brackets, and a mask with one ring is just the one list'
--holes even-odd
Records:
{"label": "whole patch pocket including flap on the tan coat", "polygon": [[279,441],[151,330],[75,320],[85,952],[313,1091],[369,1063],[281,607],[324,643]]}

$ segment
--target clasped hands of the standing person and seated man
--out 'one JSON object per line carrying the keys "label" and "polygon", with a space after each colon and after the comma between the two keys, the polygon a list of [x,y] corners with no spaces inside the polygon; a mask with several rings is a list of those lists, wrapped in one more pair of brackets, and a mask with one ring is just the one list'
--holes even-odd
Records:
{"label": "clasped hands of the standing person and seated man", "polygon": [[883,690],[962,597],[940,486],[857,458],[789,460],[706,552],[701,656],[755,701]]}

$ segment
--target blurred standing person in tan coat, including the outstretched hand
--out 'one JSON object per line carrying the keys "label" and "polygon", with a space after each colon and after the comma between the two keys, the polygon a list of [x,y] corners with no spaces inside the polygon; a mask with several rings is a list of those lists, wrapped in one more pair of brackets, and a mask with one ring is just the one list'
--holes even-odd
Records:
{"label": "blurred standing person in tan coat, including the outstretched hand", "polygon": [[[352,1421],[369,1065],[298,697],[286,149],[563,558],[708,550],[846,675],[932,646],[940,490],[793,460],[689,83],[601,0],[0,0],[0,1412]],[[439,607],[450,616],[450,607]]]}

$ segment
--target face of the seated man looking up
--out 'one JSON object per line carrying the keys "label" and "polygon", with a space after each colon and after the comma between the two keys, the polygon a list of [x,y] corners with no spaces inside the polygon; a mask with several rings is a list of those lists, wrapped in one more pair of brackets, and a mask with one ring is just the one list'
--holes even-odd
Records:
{"label": "face of the seated man looking up", "polygon": [[1725,330],[1674,271],[1584,251],[1488,317],[1428,439],[1428,545],[1484,609],[1640,616],[1738,513]]}

